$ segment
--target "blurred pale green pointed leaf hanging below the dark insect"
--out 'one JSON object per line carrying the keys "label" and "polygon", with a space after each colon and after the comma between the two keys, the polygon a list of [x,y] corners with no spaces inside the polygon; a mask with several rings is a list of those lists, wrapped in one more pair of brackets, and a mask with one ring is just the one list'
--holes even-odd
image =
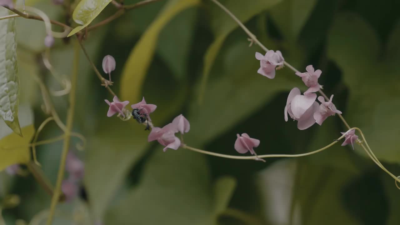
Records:
{"label": "blurred pale green pointed leaf hanging below the dark insect", "polygon": [[144,126],[132,126],[135,121],[123,122],[105,115],[104,118],[107,123],[88,137],[85,162],[85,184],[96,219],[103,217],[132,164],[148,146]]}

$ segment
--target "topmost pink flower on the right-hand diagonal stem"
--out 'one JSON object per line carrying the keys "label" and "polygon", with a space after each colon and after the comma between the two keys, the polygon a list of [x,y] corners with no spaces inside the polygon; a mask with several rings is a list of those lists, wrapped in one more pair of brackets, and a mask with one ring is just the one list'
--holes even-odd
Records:
{"label": "topmost pink flower on the right-hand diagonal stem", "polygon": [[260,68],[257,72],[270,79],[275,78],[275,67],[281,67],[284,62],[282,53],[280,51],[274,52],[273,50],[269,50],[264,56],[256,52],[256,59],[260,60]]}

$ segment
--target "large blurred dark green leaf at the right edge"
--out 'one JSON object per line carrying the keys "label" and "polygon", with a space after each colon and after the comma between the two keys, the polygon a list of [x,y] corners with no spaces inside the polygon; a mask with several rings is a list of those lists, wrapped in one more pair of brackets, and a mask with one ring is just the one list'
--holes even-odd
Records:
{"label": "large blurred dark green leaf at the right edge", "polygon": [[[345,118],[359,127],[379,159],[400,162],[400,23],[394,29],[388,50],[381,49],[374,31],[354,14],[342,14],[329,35],[328,54],[343,71],[349,88]],[[384,54],[386,52],[387,54]],[[366,155],[358,147],[357,150]]]}

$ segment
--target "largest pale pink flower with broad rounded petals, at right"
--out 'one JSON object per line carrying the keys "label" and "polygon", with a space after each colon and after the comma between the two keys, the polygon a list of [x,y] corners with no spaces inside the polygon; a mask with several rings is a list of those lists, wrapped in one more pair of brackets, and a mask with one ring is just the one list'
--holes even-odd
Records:
{"label": "largest pale pink flower with broad rounded petals, at right", "polygon": [[299,130],[305,130],[314,125],[313,115],[319,107],[318,102],[315,101],[316,98],[317,95],[314,93],[302,95],[299,88],[293,88],[286,101],[285,121],[288,121],[289,113],[290,118],[298,121],[297,128]]}

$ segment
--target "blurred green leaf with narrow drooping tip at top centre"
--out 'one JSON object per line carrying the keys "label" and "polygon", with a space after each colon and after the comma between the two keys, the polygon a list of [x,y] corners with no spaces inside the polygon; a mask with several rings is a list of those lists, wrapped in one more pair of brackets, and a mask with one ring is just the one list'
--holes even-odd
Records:
{"label": "blurred green leaf with narrow drooping tip at top centre", "polygon": [[[274,6],[281,0],[254,0],[251,4],[241,1],[220,1],[228,10],[230,10],[241,22],[246,22],[250,20],[253,16],[259,14],[260,12]],[[211,28],[215,34],[214,42],[208,47],[206,54],[204,55],[204,69],[203,76],[201,80],[200,92],[198,100],[203,103],[205,98],[206,86],[208,82],[208,77],[210,75],[210,70],[214,61],[220,51],[222,44],[224,43],[226,37],[239,25],[224,12],[220,7],[211,3],[210,7],[210,17],[211,17]]]}

